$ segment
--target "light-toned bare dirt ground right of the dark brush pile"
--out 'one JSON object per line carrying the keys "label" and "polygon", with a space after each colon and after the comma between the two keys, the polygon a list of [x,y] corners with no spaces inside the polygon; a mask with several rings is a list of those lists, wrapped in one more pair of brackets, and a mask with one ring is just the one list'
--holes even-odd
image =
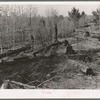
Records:
{"label": "light-toned bare dirt ground right of the dark brush pile", "polygon": [[[81,50],[95,50],[100,49],[100,43],[97,39],[94,38],[87,38],[84,41],[77,42],[72,44],[74,50],[81,51]],[[62,52],[65,52],[64,49]],[[99,52],[91,52],[91,56],[93,61],[83,62],[77,60],[77,58],[72,57],[75,61],[82,63],[88,67],[91,67],[97,73],[96,76],[87,76],[81,73],[80,69],[78,69],[75,65],[71,64],[70,58],[67,56],[64,60],[61,61],[58,69],[63,68],[63,71],[58,73],[58,77],[55,80],[46,82],[43,85],[43,88],[49,89],[100,89],[100,53]],[[65,60],[66,59],[66,60]]]}

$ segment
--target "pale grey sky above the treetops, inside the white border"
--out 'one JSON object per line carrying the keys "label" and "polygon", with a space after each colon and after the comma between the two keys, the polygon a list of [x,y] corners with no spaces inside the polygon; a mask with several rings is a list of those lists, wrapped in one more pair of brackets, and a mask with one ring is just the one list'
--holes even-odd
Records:
{"label": "pale grey sky above the treetops, inside the white border", "polygon": [[87,15],[92,15],[92,11],[96,10],[99,8],[98,4],[97,5],[42,5],[38,7],[38,12],[40,15],[45,15],[45,10],[49,8],[56,9],[60,15],[67,16],[68,11],[71,11],[71,9],[75,7],[79,9],[80,12],[85,11]]}

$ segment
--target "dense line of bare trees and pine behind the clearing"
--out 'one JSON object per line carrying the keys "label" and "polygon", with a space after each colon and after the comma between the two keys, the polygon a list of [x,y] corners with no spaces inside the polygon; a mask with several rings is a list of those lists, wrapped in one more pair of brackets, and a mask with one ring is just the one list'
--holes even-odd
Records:
{"label": "dense line of bare trees and pine behind the clearing", "polygon": [[89,22],[85,12],[73,8],[68,17],[59,15],[55,9],[46,9],[45,17],[38,14],[34,5],[0,5],[0,47],[15,49],[17,46],[31,44],[45,46],[58,37],[68,37],[75,28]]}

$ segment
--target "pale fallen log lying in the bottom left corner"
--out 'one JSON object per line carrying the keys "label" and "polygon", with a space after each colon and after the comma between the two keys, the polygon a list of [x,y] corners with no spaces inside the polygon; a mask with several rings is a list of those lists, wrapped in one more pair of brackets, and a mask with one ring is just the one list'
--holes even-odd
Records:
{"label": "pale fallen log lying in the bottom left corner", "polygon": [[35,89],[35,86],[30,86],[16,81],[5,80],[1,89]]}

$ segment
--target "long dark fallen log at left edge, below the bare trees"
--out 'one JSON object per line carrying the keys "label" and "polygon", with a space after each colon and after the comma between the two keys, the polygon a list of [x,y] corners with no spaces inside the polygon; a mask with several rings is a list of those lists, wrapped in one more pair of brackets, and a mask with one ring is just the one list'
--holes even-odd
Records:
{"label": "long dark fallen log at left edge, below the bare trees", "polygon": [[11,51],[8,51],[6,53],[3,53],[3,54],[0,54],[0,59],[1,58],[4,58],[6,56],[11,56],[11,55],[14,55],[14,54],[19,54],[20,52],[24,52],[26,50],[29,50],[31,48],[31,45],[28,45],[28,46],[25,46],[25,47],[22,47],[22,48],[19,48],[19,49],[16,49],[16,50],[11,50]]}

